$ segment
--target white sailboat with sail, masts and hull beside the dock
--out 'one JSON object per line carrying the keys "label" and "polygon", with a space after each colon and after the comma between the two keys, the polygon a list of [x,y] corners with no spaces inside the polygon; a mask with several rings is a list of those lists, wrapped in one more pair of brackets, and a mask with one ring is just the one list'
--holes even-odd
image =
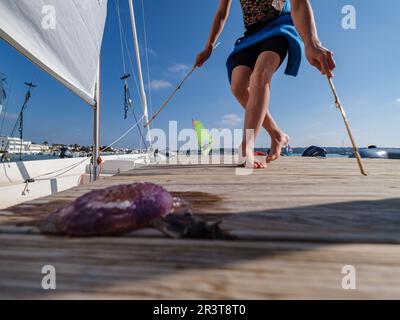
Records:
{"label": "white sailboat with sail, masts and hull beside the dock", "polygon": [[[143,107],[147,97],[132,0],[129,16]],[[87,159],[57,159],[1,163],[0,208],[74,187],[101,174],[116,174],[146,164],[143,156],[104,156],[100,165],[101,47],[107,0],[0,1],[0,38],[79,96],[93,109],[93,155]],[[140,124],[137,124],[140,125]],[[148,128],[147,138],[151,141]]]}

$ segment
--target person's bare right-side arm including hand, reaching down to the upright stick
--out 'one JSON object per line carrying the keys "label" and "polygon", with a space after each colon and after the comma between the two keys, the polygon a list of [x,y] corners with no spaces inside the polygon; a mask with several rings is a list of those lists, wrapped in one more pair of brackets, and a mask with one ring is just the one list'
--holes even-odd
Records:
{"label": "person's bare right-side arm including hand, reaching down to the upright stick", "polygon": [[306,47],[306,56],[311,65],[322,74],[333,77],[336,64],[333,53],[324,48],[318,38],[314,13],[309,0],[292,0],[292,18]]}

